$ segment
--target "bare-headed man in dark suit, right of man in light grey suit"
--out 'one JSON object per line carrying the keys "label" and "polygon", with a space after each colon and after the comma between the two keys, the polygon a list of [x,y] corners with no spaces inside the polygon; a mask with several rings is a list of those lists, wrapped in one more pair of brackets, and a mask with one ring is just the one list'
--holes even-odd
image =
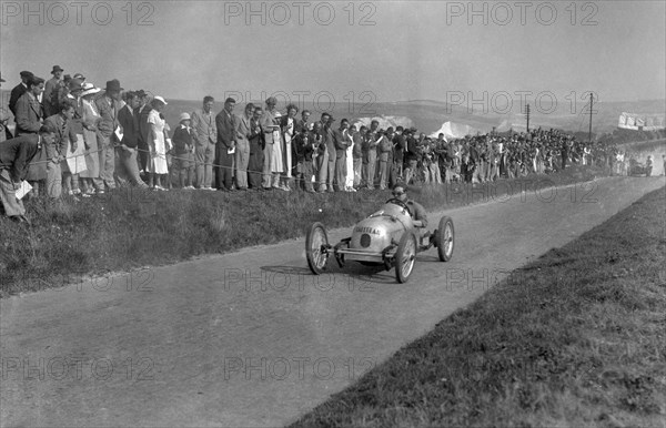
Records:
{"label": "bare-headed man in dark suit, right of man in light grey suit", "polygon": [[218,128],[218,144],[215,145],[216,188],[220,191],[233,191],[233,169],[236,150],[236,122],[233,114],[235,100],[224,100],[224,109],[215,116]]}

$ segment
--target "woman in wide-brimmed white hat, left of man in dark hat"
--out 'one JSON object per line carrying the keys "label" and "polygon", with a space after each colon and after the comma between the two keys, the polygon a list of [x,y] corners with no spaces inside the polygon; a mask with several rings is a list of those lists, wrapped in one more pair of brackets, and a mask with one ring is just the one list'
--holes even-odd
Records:
{"label": "woman in wide-brimmed white hat, left of man in dark hat", "polygon": [[[100,156],[98,154],[98,123],[101,120],[100,112],[94,105],[94,98],[101,91],[92,83],[83,83],[81,86],[81,110],[83,123],[83,142],[85,144],[85,171],[79,174],[83,196],[90,196],[95,193],[92,179],[100,176]],[[97,190],[98,194],[103,194],[103,188]]]}

